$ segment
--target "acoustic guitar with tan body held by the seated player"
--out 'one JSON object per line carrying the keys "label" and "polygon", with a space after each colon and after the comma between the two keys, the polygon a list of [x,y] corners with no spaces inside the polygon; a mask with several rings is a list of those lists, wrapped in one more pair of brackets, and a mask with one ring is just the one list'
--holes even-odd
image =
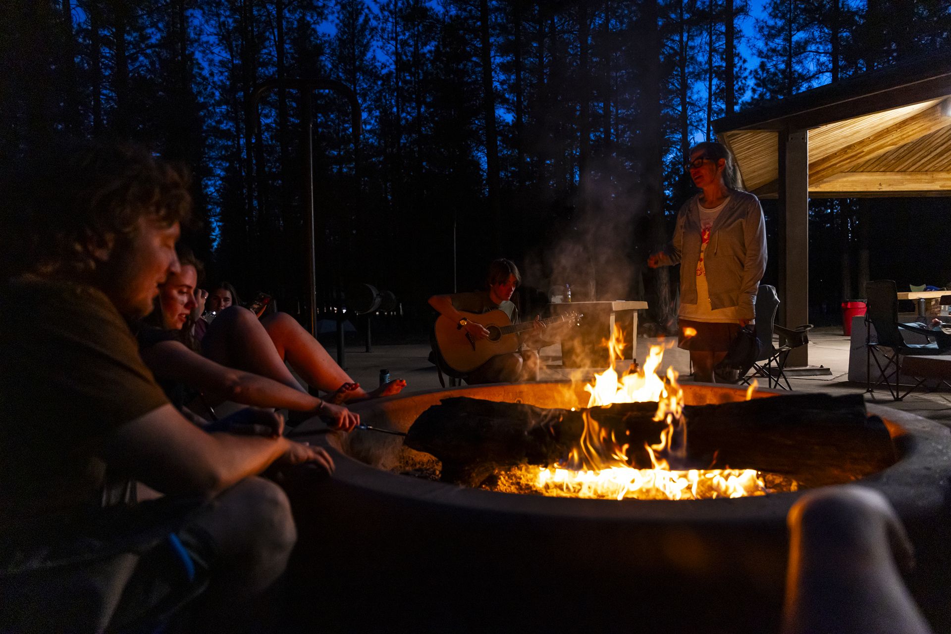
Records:
{"label": "acoustic guitar with tan body held by the seated player", "polygon": [[[518,352],[518,346],[521,344],[518,334],[532,330],[534,323],[526,321],[514,324],[508,315],[498,310],[480,315],[465,311],[459,311],[459,314],[469,321],[482,324],[489,331],[488,338],[476,339],[464,328],[459,328],[458,322],[449,317],[440,315],[437,318],[433,335],[438,353],[442,355],[446,365],[459,374],[476,370],[495,355]],[[562,321],[575,321],[580,317],[582,316],[577,313],[566,313],[542,319],[541,322],[548,326]]]}

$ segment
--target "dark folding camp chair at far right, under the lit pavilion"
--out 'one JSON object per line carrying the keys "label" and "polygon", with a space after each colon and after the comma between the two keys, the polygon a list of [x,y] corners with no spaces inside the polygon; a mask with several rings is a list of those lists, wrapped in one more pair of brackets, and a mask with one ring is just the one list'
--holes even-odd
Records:
{"label": "dark folding camp chair at far right, under the lit pavilion", "polygon": [[[917,381],[902,394],[899,387],[904,356],[945,355],[951,352],[951,336],[941,330],[931,330],[922,324],[900,323],[898,320],[898,292],[895,281],[879,279],[865,284],[868,310],[865,313],[865,392],[875,393],[875,388],[885,384],[888,394],[900,401],[929,378],[913,377]],[[875,327],[872,341],[871,327]],[[927,337],[928,343],[906,343],[902,330]],[[890,353],[890,354],[889,354]],[[872,361],[878,368],[880,378],[872,383]],[[894,385],[892,379],[894,378]],[[941,379],[941,383],[947,383]],[[951,387],[951,386],[949,386]]]}

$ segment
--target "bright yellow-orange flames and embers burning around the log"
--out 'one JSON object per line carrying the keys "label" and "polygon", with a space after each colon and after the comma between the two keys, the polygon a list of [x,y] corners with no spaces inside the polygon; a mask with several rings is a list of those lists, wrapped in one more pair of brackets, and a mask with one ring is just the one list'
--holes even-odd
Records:
{"label": "bright yellow-orange flames and embers burning around the log", "polygon": [[[694,333],[687,332],[685,336]],[[667,429],[661,432],[655,445],[648,445],[651,469],[633,469],[629,466],[627,444],[623,444],[601,428],[590,413],[585,413],[585,429],[581,440],[563,465],[549,469],[524,467],[516,479],[532,478],[534,488],[545,495],[589,498],[626,497],[639,500],[698,500],[717,497],[764,495],[767,486],[753,470],[697,470],[686,466],[687,425],[683,417],[684,393],[677,384],[677,373],[668,368],[667,380],[657,375],[664,351],[651,346],[644,367],[636,372],[618,376],[614,359],[624,348],[620,329],[615,329],[611,341],[605,342],[610,351],[608,370],[594,375],[585,390],[591,394],[588,407],[610,406],[612,403],[657,401],[654,420],[665,421]],[[755,382],[747,390],[747,400],[756,390]],[[671,463],[683,469],[671,468]]]}

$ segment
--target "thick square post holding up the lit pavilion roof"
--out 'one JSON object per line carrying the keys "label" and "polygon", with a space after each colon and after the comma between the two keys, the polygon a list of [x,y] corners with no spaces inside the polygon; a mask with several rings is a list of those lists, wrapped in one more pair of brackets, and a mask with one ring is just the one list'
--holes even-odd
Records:
{"label": "thick square post holding up the lit pavilion roof", "polygon": [[[808,146],[808,130],[779,132],[779,307],[786,328],[809,322]],[[808,363],[808,346],[786,360],[790,367]]]}

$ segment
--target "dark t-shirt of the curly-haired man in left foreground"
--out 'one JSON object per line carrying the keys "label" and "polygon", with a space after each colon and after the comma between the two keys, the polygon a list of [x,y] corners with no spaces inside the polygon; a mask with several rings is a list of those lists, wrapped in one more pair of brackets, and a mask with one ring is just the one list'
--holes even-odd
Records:
{"label": "dark t-shirt of the curly-haired man in left foreground", "polygon": [[168,401],[95,288],[0,283],[0,324],[2,540],[98,506],[104,438]]}

